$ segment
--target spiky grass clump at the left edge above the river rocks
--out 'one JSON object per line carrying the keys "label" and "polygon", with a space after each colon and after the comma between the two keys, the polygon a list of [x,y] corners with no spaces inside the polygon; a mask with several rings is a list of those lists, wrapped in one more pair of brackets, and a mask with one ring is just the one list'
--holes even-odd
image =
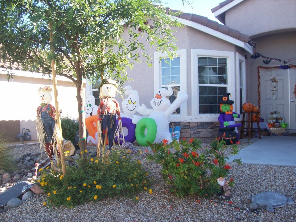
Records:
{"label": "spiky grass clump at the left edge above the river rocks", "polygon": [[0,169],[4,171],[14,171],[17,167],[7,149],[8,142],[10,142],[10,139],[5,137],[5,132],[3,130],[0,130]]}

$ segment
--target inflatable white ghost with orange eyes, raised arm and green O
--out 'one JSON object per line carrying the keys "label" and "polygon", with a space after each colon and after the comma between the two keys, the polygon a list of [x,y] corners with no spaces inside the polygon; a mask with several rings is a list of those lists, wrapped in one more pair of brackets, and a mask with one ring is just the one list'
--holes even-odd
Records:
{"label": "inflatable white ghost with orange eyes, raised arm and green O", "polygon": [[167,139],[168,142],[172,141],[168,118],[188,99],[186,93],[179,91],[177,98],[171,104],[167,97],[172,94],[173,90],[171,87],[168,87],[168,89],[160,88],[150,101],[153,109],[147,109],[144,104],[137,108],[138,113],[149,116],[142,119],[137,116],[133,118],[133,123],[137,124],[136,140],[140,145],[147,146],[146,141],[151,143],[160,143],[163,139]]}

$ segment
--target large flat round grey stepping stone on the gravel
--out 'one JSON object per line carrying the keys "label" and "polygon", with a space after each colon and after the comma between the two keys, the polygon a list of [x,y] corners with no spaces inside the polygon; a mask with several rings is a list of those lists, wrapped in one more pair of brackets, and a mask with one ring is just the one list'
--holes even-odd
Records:
{"label": "large flat round grey stepping stone on the gravel", "polygon": [[285,195],[272,191],[256,194],[252,197],[252,202],[258,204],[259,208],[279,208],[286,205],[288,198]]}

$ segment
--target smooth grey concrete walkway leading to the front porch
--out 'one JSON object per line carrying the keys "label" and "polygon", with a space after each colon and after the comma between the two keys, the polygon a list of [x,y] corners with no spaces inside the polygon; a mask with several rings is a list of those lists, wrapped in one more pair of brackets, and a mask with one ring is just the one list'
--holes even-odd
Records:
{"label": "smooth grey concrete walkway leading to the front porch", "polygon": [[227,161],[241,158],[243,163],[296,167],[296,137],[261,136],[261,139],[251,140],[256,142],[240,150],[238,155],[229,157]]}

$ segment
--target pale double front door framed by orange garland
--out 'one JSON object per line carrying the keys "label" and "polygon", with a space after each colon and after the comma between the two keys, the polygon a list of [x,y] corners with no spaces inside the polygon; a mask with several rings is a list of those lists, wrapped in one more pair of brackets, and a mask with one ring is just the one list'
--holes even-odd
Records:
{"label": "pale double front door framed by orange garland", "polygon": [[[278,81],[276,99],[272,96],[272,78]],[[288,124],[287,130],[296,130],[296,69],[260,68],[260,112],[261,117],[268,120],[271,112],[277,111]],[[296,92],[295,92],[296,93]]]}

